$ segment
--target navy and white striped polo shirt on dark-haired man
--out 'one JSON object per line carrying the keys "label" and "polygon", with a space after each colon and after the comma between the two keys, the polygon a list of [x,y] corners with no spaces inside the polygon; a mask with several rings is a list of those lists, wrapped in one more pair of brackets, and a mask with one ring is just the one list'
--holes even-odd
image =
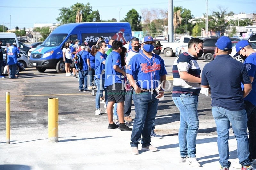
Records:
{"label": "navy and white striped polo shirt on dark-haired man", "polygon": [[199,83],[191,83],[180,78],[179,72],[186,71],[189,74],[200,77],[200,67],[197,63],[197,58],[192,57],[188,52],[181,53],[173,63],[173,92],[172,97],[180,97],[180,94],[199,94],[201,86]]}

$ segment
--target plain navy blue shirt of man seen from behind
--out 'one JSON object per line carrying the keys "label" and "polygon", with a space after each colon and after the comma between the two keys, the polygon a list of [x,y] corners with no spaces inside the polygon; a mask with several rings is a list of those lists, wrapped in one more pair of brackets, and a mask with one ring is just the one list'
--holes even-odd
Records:
{"label": "plain navy blue shirt of man seen from behind", "polygon": [[212,106],[231,111],[244,109],[241,82],[251,83],[246,67],[230,55],[217,55],[202,71],[202,85],[211,87]]}

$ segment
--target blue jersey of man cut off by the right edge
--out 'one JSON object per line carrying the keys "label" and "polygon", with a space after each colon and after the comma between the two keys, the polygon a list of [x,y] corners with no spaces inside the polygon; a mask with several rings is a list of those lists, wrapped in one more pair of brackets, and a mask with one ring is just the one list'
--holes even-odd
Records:
{"label": "blue jersey of man cut off by the right edge", "polygon": [[256,53],[252,53],[249,55],[245,61],[244,65],[250,77],[253,77],[252,81],[252,90],[251,92],[244,98],[244,100],[250,101],[254,106],[256,106]]}

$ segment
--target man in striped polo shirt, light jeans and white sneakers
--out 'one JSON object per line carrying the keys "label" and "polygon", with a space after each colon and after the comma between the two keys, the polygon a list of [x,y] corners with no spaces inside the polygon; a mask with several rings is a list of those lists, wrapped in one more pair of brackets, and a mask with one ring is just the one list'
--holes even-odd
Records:
{"label": "man in striped polo shirt, light jeans and white sneakers", "polygon": [[187,162],[193,167],[201,166],[196,160],[197,106],[201,89],[201,70],[196,60],[203,54],[203,43],[201,39],[192,38],[188,42],[188,51],[175,59],[172,68],[172,99],[180,111],[180,163]]}

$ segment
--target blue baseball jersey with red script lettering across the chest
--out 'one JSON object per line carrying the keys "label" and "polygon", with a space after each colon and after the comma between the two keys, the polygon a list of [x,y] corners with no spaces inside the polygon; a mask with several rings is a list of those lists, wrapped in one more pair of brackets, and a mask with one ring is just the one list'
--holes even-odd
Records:
{"label": "blue baseball jersey with red script lettering across the chest", "polygon": [[141,89],[156,89],[160,85],[160,76],[167,74],[164,60],[159,55],[152,55],[150,59],[140,51],[130,59],[126,69]]}

